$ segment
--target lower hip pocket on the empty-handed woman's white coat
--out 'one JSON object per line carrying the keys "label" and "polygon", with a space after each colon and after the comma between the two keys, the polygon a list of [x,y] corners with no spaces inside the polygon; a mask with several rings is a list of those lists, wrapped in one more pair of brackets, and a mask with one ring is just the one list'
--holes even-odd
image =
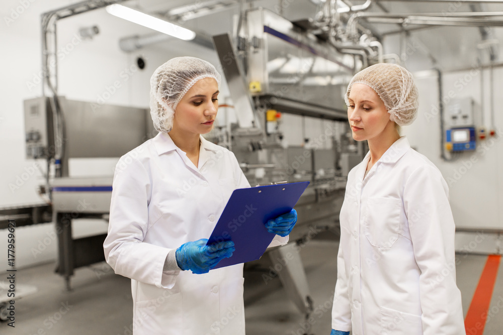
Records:
{"label": "lower hip pocket on the empty-handed woman's white coat", "polygon": [[421,315],[381,307],[380,335],[423,335]]}

